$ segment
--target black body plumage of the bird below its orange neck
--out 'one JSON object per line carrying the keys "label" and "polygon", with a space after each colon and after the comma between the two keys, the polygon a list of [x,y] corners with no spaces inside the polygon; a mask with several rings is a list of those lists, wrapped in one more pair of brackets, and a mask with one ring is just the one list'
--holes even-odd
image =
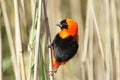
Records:
{"label": "black body plumage of the bird below its orange neck", "polygon": [[54,57],[58,62],[70,60],[78,50],[78,43],[72,36],[61,39],[59,34],[57,34],[52,45]]}

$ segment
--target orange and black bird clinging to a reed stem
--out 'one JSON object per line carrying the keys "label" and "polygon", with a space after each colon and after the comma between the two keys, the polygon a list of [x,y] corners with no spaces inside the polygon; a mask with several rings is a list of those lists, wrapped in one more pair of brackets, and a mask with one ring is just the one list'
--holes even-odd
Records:
{"label": "orange and black bird clinging to a reed stem", "polygon": [[52,47],[52,64],[54,74],[60,65],[64,65],[77,53],[78,50],[78,24],[73,19],[64,19],[56,24],[60,31],[55,35]]}

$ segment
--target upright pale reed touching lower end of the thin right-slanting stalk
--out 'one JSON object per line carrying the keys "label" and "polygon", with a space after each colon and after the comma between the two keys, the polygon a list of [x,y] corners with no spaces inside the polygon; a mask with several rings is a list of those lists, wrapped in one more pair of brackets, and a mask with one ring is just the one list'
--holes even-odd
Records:
{"label": "upright pale reed touching lower end of the thin right-slanting stalk", "polygon": [[105,29],[106,29],[106,44],[105,44],[105,62],[106,62],[106,80],[111,79],[111,38],[110,38],[110,6],[109,0],[105,0]]}

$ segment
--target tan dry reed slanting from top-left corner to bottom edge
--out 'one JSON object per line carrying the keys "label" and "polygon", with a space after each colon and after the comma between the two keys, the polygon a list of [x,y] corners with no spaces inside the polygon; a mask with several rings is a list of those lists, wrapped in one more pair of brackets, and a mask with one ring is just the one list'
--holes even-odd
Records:
{"label": "tan dry reed slanting from top-left corner to bottom edge", "polygon": [[8,14],[7,14],[7,10],[6,10],[6,3],[4,0],[0,0],[0,3],[1,3],[3,19],[4,19],[4,23],[5,23],[5,28],[6,28],[6,32],[7,32],[8,42],[9,42],[9,46],[10,46],[10,53],[11,53],[11,59],[12,59],[12,65],[13,65],[13,70],[14,70],[14,74],[15,74],[15,79],[19,80],[17,78],[17,73],[16,73],[18,70],[17,59],[16,59],[15,46],[14,46],[12,32],[11,32],[11,25],[10,25],[10,21],[8,19]]}

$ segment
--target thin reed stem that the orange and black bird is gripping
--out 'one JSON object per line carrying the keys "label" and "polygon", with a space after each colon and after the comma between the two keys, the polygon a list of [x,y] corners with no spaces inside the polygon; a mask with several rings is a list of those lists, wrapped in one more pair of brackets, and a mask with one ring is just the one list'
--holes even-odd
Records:
{"label": "thin reed stem that the orange and black bird is gripping", "polygon": [[[44,9],[44,15],[45,15],[45,23],[46,23],[46,32],[47,32],[47,41],[48,44],[51,44],[51,35],[50,35],[50,27],[49,27],[49,22],[48,22],[48,17],[47,17],[47,10],[46,10],[46,4],[45,4],[45,0],[43,1],[43,9]],[[53,66],[52,66],[52,49],[49,48],[48,50],[49,52],[49,71],[53,70]],[[54,76],[53,75],[49,75],[50,80],[54,80]]]}

